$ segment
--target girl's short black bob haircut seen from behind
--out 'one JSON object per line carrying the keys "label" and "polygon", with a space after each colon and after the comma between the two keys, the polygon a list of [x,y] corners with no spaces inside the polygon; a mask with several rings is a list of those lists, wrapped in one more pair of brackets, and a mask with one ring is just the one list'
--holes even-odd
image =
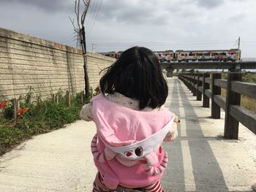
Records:
{"label": "girl's short black bob haircut seen from behind", "polygon": [[157,56],[145,47],[132,47],[120,58],[102,70],[99,81],[102,93],[121,93],[140,101],[140,110],[165,104],[168,87]]}

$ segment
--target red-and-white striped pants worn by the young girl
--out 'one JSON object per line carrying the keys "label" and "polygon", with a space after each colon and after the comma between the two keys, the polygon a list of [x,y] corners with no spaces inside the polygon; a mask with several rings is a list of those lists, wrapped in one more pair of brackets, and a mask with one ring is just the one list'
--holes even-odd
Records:
{"label": "red-and-white striped pants worn by the young girl", "polygon": [[[138,188],[138,190],[141,191],[145,191],[145,192],[164,192],[164,190],[162,189],[162,185],[160,181],[157,181],[154,184],[148,185],[146,187],[143,188]],[[101,174],[99,174],[99,172],[96,175],[96,178],[94,180],[94,189],[93,192],[99,192],[99,191],[113,191],[110,188],[107,188],[105,186],[105,184],[103,183],[103,179]]]}

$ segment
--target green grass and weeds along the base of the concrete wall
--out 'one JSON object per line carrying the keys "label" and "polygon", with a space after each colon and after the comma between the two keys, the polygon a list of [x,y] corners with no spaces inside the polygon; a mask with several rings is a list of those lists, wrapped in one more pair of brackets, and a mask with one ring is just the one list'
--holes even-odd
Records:
{"label": "green grass and weeds along the base of the concrete wall", "polygon": [[[67,107],[66,96],[59,92],[59,103],[54,101],[32,101],[32,93],[20,98],[20,107],[29,107],[29,111],[20,115],[17,120],[12,117],[12,104],[9,102],[0,113],[0,155],[30,139],[37,134],[43,134],[62,128],[79,118],[81,95],[71,98],[71,107]],[[0,101],[1,102],[1,101]],[[89,98],[84,101],[89,102]]]}

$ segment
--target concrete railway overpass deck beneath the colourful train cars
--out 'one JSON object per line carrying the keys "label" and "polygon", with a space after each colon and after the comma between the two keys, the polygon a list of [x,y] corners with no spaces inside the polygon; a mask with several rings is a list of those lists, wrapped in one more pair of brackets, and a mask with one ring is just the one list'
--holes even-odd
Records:
{"label": "concrete railway overpass deck beneath the colourful train cars", "polygon": [[167,70],[167,77],[172,77],[174,69],[227,69],[230,72],[240,71],[241,69],[256,69],[256,61],[171,62],[171,63],[161,63],[161,68]]}

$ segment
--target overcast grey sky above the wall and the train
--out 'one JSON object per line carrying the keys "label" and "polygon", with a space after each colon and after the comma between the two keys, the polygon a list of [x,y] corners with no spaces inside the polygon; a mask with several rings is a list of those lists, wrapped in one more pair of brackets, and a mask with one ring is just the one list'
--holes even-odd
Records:
{"label": "overcast grey sky above the wall and the train", "polygon": [[[75,0],[0,0],[0,28],[76,46]],[[91,0],[87,47],[96,52],[238,47],[256,57],[256,0]]]}

